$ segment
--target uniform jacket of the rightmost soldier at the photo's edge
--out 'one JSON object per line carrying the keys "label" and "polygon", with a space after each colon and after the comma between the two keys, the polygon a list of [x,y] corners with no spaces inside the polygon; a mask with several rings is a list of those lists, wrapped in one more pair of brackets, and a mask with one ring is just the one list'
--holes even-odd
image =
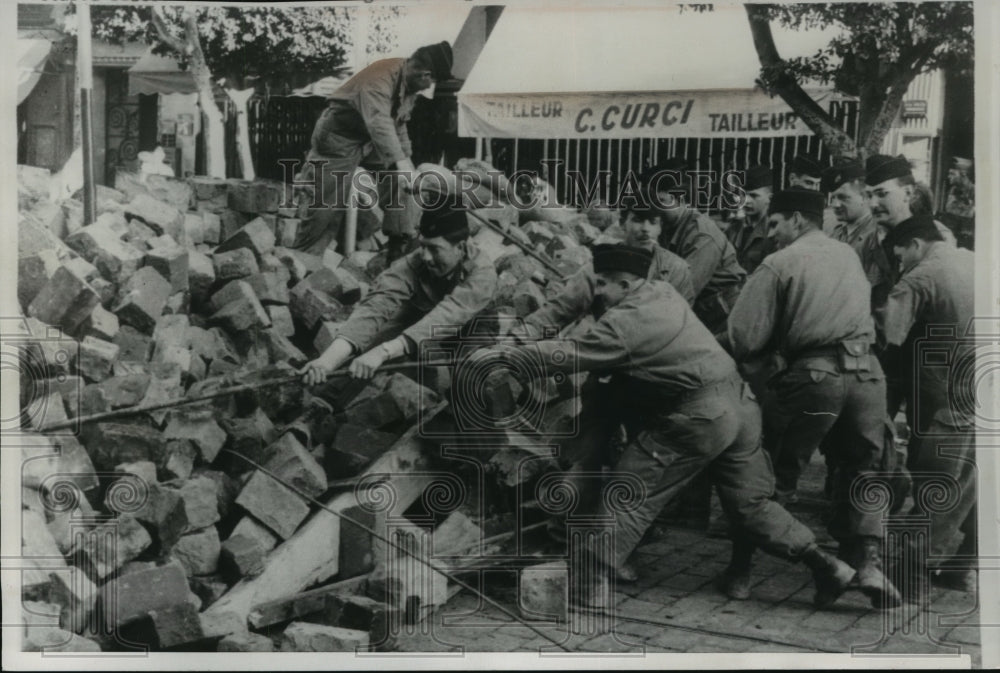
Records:
{"label": "uniform jacket of the rightmost soldier at the photo's edge", "polygon": [[[914,358],[919,356],[917,344],[921,340],[926,340],[931,350],[953,351],[949,366],[925,365],[918,370],[919,383],[911,389],[919,394],[916,420],[921,429],[925,429],[935,416],[949,425],[971,422],[953,414],[949,400],[956,399],[956,395],[966,400],[975,399],[975,391],[952,390],[949,395],[948,375],[952,370],[959,370],[963,358],[972,357],[974,352],[974,341],[966,334],[975,308],[974,264],[975,253],[944,242],[932,243],[927,256],[906,270],[893,286],[884,314],[879,316],[886,341],[901,347],[904,361],[908,363],[920,361]],[[938,333],[944,328],[952,328],[954,336],[946,336],[934,344],[928,339],[929,326],[934,326]],[[913,371],[908,369],[908,372]],[[974,377],[954,378],[953,386],[962,383],[971,386]]]}

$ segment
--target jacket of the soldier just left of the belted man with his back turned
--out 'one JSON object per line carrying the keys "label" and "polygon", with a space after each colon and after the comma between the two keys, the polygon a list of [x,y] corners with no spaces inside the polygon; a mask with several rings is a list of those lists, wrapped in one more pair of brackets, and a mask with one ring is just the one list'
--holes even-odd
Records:
{"label": "jacket of the soldier just left of the belted man with his back turned", "polygon": [[696,210],[688,209],[672,232],[664,227],[660,244],[691,267],[691,284],[699,299],[738,290],[746,278],[726,235],[710,217]]}

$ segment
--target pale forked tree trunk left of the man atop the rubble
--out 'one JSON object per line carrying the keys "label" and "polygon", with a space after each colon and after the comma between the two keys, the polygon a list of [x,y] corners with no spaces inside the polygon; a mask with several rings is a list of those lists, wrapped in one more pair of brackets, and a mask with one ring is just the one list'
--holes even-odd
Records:
{"label": "pale forked tree trunk left of the man atop the rubble", "polygon": [[153,7],[153,26],[160,40],[174,51],[185,56],[188,67],[198,87],[198,106],[201,108],[202,136],[205,141],[205,174],[213,178],[226,177],[226,128],[222,111],[215,104],[212,91],[212,71],[205,61],[198,37],[197,10],[188,8],[184,12],[184,39],[179,40],[167,29],[166,21],[158,7]]}

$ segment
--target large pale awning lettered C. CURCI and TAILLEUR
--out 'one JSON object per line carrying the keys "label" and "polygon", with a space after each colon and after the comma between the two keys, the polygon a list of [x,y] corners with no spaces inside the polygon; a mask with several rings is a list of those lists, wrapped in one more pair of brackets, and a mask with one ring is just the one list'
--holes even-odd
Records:
{"label": "large pale awning lettered C. CURCI and TAILLEUR", "polygon": [[[805,55],[827,39],[813,31],[808,44],[777,46],[782,56]],[[458,133],[539,139],[810,133],[784,101],[755,86],[759,71],[740,6],[704,13],[676,6],[507,7],[459,91]],[[834,95],[829,88],[807,91],[820,102]]]}

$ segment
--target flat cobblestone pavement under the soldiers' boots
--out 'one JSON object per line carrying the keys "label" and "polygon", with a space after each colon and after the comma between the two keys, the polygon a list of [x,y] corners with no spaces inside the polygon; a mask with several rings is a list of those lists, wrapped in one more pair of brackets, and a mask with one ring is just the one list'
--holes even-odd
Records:
{"label": "flat cobblestone pavement under the soldiers' boots", "polygon": [[[791,509],[825,544],[829,538],[821,521],[822,478],[817,455],[805,475],[802,502]],[[713,529],[721,532],[718,522]],[[849,592],[832,608],[816,610],[811,574],[804,565],[758,553],[751,599],[729,600],[715,587],[729,558],[729,542],[722,535],[671,527],[650,538],[638,549],[638,583],[619,586],[613,594],[614,617],[602,620],[570,612],[568,623],[538,625],[575,652],[968,654],[973,666],[979,666],[975,594],[934,588],[929,610],[906,605],[883,612],[872,609],[860,593]],[[498,571],[484,580],[488,595],[514,610],[515,574]],[[550,641],[468,591],[452,598],[415,632],[401,634],[397,647],[436,652],[456,648],[558,652]],[[941,664],[948,665],[948,660]]]}

